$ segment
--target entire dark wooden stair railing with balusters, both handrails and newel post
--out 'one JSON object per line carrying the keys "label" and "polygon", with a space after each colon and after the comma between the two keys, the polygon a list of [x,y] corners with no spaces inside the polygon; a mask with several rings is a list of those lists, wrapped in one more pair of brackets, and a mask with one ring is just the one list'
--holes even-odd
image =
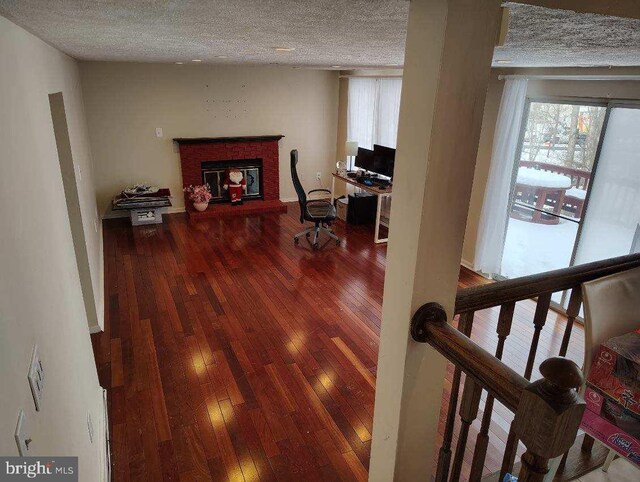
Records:
{"label": "entire dark wooden stair railing with balusters, both handrails and newel post", "polygon": [[[640,254],[634,254],[459,290],[455,305],[455,314],[460,316],[457,330],[446,322],[445,311],[435,303],[428,303],[416,312],[411,333],[414,340],[429,343],[455,365],[443,444],[438,457],[437,482],[460,479],[469,427],[478,415],[482,390],[488,393],[469,480],[482,478],[496,399],[515,414],[502,460],[500,480],[505,473],[513,471],[519,441],[527,449],[522,456],[519,480],[542,480],[548,460],[566,453],[573,444],[584,410],[584,402],[574,390],[581,385],[581,370],[572,361],[561,358],[567,353],[573,324],[580,313],[581,285],[638,266]],[[565,290],[569,290],[570,295],[560,357],[543,362],[540,365],[543,379],[530,383],[551,297]],[[501,358],[511,331],[515,305],[531,298],[537,298],[532,319],[533,336],[526,368],[524,373],[518,374],[506,366]],[[473,343],[470,336],[475,312],[497,306],[500,307],[496,329],[498,343],[495,355],[491,355]],[[458,443],[452,460],[451,445],[462,372],[467,376],[459,409],[461,423]],[[549,407],[553,407],[553,410],[549,411]],[[548,422],[543,423],[545,420]]]}

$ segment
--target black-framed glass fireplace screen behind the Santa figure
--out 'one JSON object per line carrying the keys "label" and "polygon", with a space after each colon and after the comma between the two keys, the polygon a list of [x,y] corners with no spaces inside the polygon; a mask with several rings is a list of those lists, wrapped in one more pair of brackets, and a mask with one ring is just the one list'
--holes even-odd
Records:
{"label": "black-framed glass fireplace screen behind the Santa figure", "polygon": [[247,191],[242,196],[244,200],[262,199],[262,161],[250,159],[246,161],[206,161],[202,163],[202,181],[209,184],[211,189],[210,202],[224,202],[229,200],[227,191],[222,187],[230,167],[242,171],[247,182]]}

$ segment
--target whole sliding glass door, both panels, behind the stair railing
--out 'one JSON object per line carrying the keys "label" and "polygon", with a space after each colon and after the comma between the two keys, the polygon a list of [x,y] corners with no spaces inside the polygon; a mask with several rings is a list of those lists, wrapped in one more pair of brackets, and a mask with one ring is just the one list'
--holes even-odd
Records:
{"label": "whole sliding glass door, both panels, behind the stair railing", "polygon": [[523,124],[497,276],[640,252],[640,104],[529,101]]}

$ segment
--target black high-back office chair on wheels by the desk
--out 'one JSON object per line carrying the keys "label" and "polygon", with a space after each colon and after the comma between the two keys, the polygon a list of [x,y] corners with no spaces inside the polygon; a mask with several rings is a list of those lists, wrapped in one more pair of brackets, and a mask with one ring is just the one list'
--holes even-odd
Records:
{"label": "black high-back office chair on wheels by the desk", "polygon": [[311,228],[307,228],[304,231],[300,231],[293,237],[293,241],[298,244],[300,237],[303,235],[307,237],[307,240],[311,237],[311,233],[313,235],[313,249],[320,249],[319,237],[320,232],[328,234],[331,239],[336,242],[336,245],[340,245],[340,238],[335,235],[333,230],[330,228],[331,222],[336,219],[336,208],[329,201],[322,200],[307,200],[307,194],[311,194],[312,192],[327,192],[331,194],[331,191],[328,189],[312,189],[308,193],[305,192],[302,187],[302,183],[300,182],[300,178],[298,177],[298,169],[296,165],[298,164],[298,151],[296,149],[291,151],[291,180],[293,181],[293,187],[296,188],[296,193],[298,194],[298,203],[300,204],[300,222],[304,224],[305,221],[311,221],[314,223],[314,226]]}

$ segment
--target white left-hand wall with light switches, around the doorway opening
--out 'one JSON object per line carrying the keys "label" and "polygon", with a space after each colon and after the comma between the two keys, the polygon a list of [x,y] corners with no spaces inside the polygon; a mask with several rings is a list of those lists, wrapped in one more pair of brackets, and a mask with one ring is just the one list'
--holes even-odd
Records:
{"label": "white left-hand wall with light switches, around the doorway opening", "polygon": [[[99,266],[101,233],[76,62],[0,17],[0,454],[24,409],[34,455],[77,455],[80,480],[101,480],[102,400],[76,267],[48,95],[63,92],[72,151],[83,171],[87,243]],[[99,270],[99,268],[96,268]],[[101,273],[96,273],[98,280]],[[96,282],[98,283],[98,280]],[[99,283],[98,283],[99,284]],[[100,288],[100,298],[102,298]],[[33,344],[46,373],[36,412],[27,382]]]}

